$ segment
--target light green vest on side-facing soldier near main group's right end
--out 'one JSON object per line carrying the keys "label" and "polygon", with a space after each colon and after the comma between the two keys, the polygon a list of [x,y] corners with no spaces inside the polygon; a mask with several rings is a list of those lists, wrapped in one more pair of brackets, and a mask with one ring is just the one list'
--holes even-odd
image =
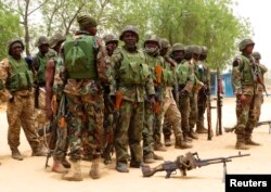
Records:
{"label": "light green vest on side-facing soldier near main group's right end", "polygon": [[184,61],[180,63],[176,69],[177,72],[177,78],[179,85],[185,85],[189,81],[189,76],[191,73],[190,63],[188,61]]}

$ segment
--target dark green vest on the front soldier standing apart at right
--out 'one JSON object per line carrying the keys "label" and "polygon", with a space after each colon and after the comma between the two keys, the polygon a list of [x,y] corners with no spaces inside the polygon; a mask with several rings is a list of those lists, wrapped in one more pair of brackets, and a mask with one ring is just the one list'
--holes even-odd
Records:
{"label": "dark green vest on the front soldier standing apart at right", "polygon": [[[238,59],[242,61],[242,65],[240,66],[242,86],[253,86],[254,85],[254,76],[251,68],[253,66],[249,61],[249,57],[240,55]],[[256,67],[257,67],[256,69],[259,71],[259,67],[257,65]]]}

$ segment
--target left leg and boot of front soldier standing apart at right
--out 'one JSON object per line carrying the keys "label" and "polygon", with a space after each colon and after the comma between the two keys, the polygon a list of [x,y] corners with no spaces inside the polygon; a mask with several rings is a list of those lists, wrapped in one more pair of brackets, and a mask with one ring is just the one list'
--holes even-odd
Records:
{"label": "left leg and boot of front soldier standing apart at right", "polygon": [[240,95],[236,97],[236,117],[237,125],[235,129],[236,133],[236,150],[248,150],[245,145],[245,127],[248,121],[249,106],[251,102],[251,95],[246,95],[246,104],[242,104]]}

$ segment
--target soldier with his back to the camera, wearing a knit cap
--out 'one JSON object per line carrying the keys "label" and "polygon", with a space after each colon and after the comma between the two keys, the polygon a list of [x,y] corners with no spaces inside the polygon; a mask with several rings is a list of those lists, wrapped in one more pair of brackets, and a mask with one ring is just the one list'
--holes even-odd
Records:
{"label": "soldier with his back to the camera, wearing a knit cap", "polygon": [[[82,129],[88,132],[88,143],[92,151],[90,177],[98,179],[102,151],[104,54],[100,38],[91,36],[96,31],[96,21],[88,15],[77,17],[80,30],[67,36],[64,42],[64,61],[67,84],[64,93],[67,103],[69,161],[72,164],[63,180],[81,181],[80,150]],[[85,119],[83,119],[85,118]]]}

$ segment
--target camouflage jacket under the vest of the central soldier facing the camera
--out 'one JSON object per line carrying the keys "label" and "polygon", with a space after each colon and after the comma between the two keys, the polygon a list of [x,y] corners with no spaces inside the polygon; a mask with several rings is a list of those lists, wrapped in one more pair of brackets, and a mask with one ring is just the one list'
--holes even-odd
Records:
{"label": "camouflage jacket under the vest of the central soldier facing the camera", "polygon": [[[111,85],[111,95],[115,95],[119,90],[122,93],[122,99],[132,102],[144,102],[146,95],[154,95],[154,84],[152,76],[150,75],[145,85],[130,85],[126,86],[126,82],[120,79],[120,66],[124,61],[121,51],[126,49],[117,48],[112,55],[112,76],[113,81]],[[127,52],[127,51],[126,51]],[[137,50],[134,54],[140,54],[141,50]],[[145,59],[144,59],[145,60]]]}

